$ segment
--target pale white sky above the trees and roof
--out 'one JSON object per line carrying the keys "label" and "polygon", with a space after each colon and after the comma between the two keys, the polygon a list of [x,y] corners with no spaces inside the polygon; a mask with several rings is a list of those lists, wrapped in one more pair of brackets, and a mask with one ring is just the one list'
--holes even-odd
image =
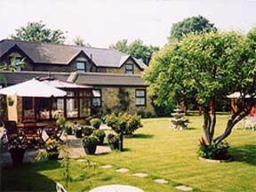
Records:
{"label": "pale white sky above the trees and roof", "polygon": [[172,24],[202,15],[220,30],[256,28],[256,0],[0,0],[0,39],[43,20],[47,28],[67,32],[95,47],[127,38],[163,46]]}

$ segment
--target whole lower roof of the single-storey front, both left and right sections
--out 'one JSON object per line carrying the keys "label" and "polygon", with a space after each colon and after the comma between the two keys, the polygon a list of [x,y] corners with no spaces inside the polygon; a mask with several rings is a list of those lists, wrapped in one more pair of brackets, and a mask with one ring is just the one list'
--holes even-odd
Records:
{"label": "whole lower roof of the single-storey front, both left and right sections", "polygon": [[[8,84],[20,84],[35,77],[52,76],[60,81],[68,81],[72,79],[72,83],[84,85],[100,85],[100,86],[145,86],[141,76],[136,75],[117,75],[107,73],[66,73],[66,72],[42,72],[42,71],[1,71]],[[72,76],[72,78],[70,78]],[[0,79],[0,84],[3,80]]]}

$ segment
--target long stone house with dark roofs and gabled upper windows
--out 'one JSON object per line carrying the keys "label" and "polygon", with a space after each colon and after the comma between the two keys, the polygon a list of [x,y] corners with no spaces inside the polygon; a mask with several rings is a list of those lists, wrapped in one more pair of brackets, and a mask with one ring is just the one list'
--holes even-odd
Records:
{"label": "long stone house with dark roofs and gabled upper windows", "polygon": [[[147,65],[122,52],[77,45],[2,40],[0,63],[8,68],[12,60],[17,64],[23,60],[24,65],[19,65],[15,72],[1,71],[8,85],[19,84],[33,77],[47,77],[91,87],[91,96],[86,93],[85,97],[85,93],[76,92],[77,89],[69,90],[66,100],[55,100],[51,108],[46,108],[43,99],[38,101],[37,107],[44,109],[45,113],[51,114],[52,108],[66,108],[70,113],[65,116],[70,118],[84,118],[122,109],[132,114],[141,110],[154,113],[147,92],[148,84],[141,77]],[[3,86],[4,82],[0,80],[0,84]],[[19,100],[23,107],[28,103],[28,100]],[[22,121],[26,113],[29,110],[22,109],[14,119]]]}

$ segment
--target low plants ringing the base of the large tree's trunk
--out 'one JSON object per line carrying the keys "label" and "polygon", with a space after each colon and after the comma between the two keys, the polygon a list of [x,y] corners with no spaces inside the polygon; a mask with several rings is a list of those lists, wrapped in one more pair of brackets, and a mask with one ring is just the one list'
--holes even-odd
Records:
{"label": "low plants ringing the base of the large tree's trunk", "polygon": [[219,145],[207,145],[203,138],[199,141],[198,156],[215,160],[227,160],[230,158],[228,155],[229,145],[227,141],[220,142]]}

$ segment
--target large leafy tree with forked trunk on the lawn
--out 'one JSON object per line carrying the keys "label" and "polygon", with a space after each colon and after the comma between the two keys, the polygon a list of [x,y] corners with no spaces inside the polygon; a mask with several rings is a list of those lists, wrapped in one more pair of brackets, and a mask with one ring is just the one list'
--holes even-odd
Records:
{"label": "large leafy tree with forked trunk on the lawn", "polygon": [[[154,55],[144,77],[156,104],[196,100],[204,112],[204,139],[208,145],[218,145],[255,104],[255,50],[255,30],[247,36],[238,32],[191,34]],[[224,132],[214,136],[216,100],[232,92],[241,95],[237,111],[228,118]]]}

